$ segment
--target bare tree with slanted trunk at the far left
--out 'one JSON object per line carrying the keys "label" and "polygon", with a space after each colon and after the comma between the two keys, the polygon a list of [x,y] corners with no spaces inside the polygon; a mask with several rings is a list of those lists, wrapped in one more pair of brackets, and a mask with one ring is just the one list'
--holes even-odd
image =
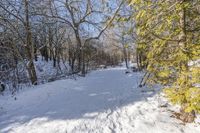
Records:
{"label": "bare tree with slanted trunk at the far left", "polygon": [[[3,16],[1,15],[3,27],[13,33],[13,35],[11,35],[13,38],[10,40],[13,49],[18,58],[23,61],[32,84],[37,84],[37,75],[33,63],[34,46],[32,43],[30,26],[29,1],[2,1],[0,2],[0,9],[4,13],[4,15],[2,14]],[[16,42],[14,40],[16,40]],[[21,44],[19,45],[19,43]],[[20,49],[26,50],[25,57]],[[27,59],[28,63],[24,62],[24,58]]]}

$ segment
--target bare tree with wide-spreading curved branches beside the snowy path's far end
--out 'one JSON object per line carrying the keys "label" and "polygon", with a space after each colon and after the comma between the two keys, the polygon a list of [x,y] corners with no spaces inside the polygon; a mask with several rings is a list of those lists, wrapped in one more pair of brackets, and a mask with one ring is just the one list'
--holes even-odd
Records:
{"label": "bare tree with wide-spreading curved branches beside the snowy path's far end", "polygon": [[[84,0],[84,1],[53,1],[50,2],[51,12],[36,13],[37,15],[46,16],[49,18],[56,18],[59,21],[67,24],[74,32],[74,38],[76,39],[76,54],[75,61],[77,62],[77,70],[81,72],[84,76],[86,73],[85,69],[85,49],[86,45],[89,44],[91,40],[97,40],[101,37],[103,32],[109,28],[112,24],[114,18],[116,17],[121,5],[124,3],[122,0],[115,11],[111,11],[111,15],[106,15],[102,10],[104,10],[107,3],[96,0]],[[59,4],[58,4],[59,3]],[[61,6],[62,5],[62,6]],[[99,7],[99,5],[101,5]],[[81,8],[80,8],[81,7]],[[59,12],[62,9],[62,12]],[[67,16],[67,17],[66,17]],[[102,24],[104,23],[104,25]],[[86,31],[85,27],[89,26],[91,31]],[[87,32],[97,32],[95,36],[84,36]],[[93,34],[93,33],[92,33]],[[83,37],[84,36],[84,37]],[[73,55],[73,54],[70,54]],[[74,70],[74,67],[73,67]]]}

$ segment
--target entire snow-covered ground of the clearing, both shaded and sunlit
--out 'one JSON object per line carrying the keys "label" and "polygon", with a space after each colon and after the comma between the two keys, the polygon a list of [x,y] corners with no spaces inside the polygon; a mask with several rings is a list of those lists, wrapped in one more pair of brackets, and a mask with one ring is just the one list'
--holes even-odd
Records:
{"label": "entire snow-covered ground of the clearing, both shaded and sunlit", "polygon": [[141,76],[109,68],[0,96],[0,132],[200,133],[199,118],[183,125],[158,89],[138,88]]}

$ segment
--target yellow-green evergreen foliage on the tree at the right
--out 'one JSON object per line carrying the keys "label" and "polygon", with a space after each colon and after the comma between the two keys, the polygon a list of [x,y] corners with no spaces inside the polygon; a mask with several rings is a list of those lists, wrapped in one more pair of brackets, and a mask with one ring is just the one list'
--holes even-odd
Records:
{"label": "yellow-green evergreen foliage on the tree at the right", "polygon": [[200,1],[129,0],[135,10],[137,50],[145,51],[149,82],[186,112],[200,112]]}

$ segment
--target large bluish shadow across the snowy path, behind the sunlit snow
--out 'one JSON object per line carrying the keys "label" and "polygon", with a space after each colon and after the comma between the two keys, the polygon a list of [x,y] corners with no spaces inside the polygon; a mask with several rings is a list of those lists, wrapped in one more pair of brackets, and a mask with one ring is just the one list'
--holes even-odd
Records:
{"label": "large bluish shadow across the snowy path, behind the sunlit snow", "polygon": [[[0,131],[9,132],[35,123],[93,119],[102,112],[112,113],[156,94],[156,91],[144,92],[138,88],[140,78],[140,73],[127,75],[123,69],[113,69],[92,72],[77,81],[42,85],[25,92],[24,97],[20,95],[16,108],[0,115]],[[35,96],[29,97],[29,93]]]}

